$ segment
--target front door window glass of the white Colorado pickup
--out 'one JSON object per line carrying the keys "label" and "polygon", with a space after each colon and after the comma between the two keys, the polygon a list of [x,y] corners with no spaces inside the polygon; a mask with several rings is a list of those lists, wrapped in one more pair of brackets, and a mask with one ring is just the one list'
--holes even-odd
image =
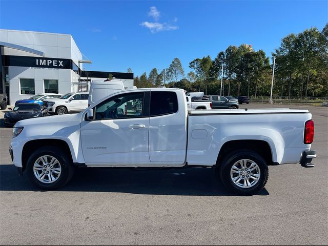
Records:
{"label": "front door window glass of the white Colorado pickup", "polygon": [[95,119],[142,117],[143,105],[144,92],[118,95],[96,106]]}

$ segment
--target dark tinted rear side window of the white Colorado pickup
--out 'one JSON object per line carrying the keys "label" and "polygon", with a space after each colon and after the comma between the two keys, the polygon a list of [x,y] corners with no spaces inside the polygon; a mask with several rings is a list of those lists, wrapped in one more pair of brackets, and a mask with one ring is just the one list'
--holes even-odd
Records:
{"label": "dark tinted rear side window of the white Colorado pickup", "polygon": [[175,92],[152,91],[150,96],[150,116],[178,112],[178,98]]}

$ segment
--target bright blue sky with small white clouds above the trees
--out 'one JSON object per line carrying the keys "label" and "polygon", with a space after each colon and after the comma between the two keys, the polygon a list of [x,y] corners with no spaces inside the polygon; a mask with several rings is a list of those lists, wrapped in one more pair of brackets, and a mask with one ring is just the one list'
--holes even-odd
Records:
{"label": "bright blue sky with small white clouds above the trees", "polygon": [[135,76],[229,45],[252,44],[271,56],[281,38],[321,31],[328,1],[1,1],[0,28],[71,34],[93,61],[87,70]]}

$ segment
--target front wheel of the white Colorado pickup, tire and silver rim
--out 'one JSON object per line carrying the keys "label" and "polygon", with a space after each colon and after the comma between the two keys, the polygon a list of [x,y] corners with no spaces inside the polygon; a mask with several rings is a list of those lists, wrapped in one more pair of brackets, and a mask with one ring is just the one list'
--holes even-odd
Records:
{"label": "front wheel of the white Colorado pickup, tire and silver rim", "polygon": [[55,190],[73,176],[74,167],[60,148],[46,146],[35,150],[27,161],[27,176],[36,187]]}

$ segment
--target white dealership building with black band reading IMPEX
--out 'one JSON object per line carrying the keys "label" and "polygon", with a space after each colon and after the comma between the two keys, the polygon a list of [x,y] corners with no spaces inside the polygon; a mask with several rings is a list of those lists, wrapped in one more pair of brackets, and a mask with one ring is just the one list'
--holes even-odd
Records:
{"label": "white dealership building with black band reading IMPEX", "polygon": [[0,29],[0,93],[9,104],[40,93],[84,92],[92,80],[112,74],[133,88],[133,73],[85,71],[83,59],[69,34]]}

